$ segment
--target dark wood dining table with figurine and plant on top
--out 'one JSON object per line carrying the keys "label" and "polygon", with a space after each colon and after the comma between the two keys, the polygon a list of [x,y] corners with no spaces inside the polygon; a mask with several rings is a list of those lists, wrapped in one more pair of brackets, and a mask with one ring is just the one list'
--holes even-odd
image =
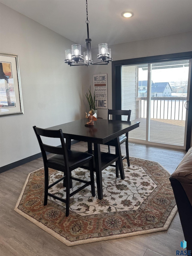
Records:
{"label": "dark wood dining table with figurine and plant on top", "polygon": [[[118,155],[121,179],[125,179],[122,157],[119,157],[121,156],[119,136],[139,127],[140,122],[98,119],[94,122],[95,125],[93,126],[85,126],[85,123],[86,119],[80,119],[47,129],[62,129],[63,136],[66,138],[67,149],[70,149],[71,140],[85,141],[88,143],[88,152],[94,154],[98,199],[101,200],[103,198],[102,170],[112,164],[114,160],[116,161]],[[100,144],[105,144],[113,139],[116,141],[116,154],[101,152]],[[92,151],[92,143],[94,143],[94,151]]]}

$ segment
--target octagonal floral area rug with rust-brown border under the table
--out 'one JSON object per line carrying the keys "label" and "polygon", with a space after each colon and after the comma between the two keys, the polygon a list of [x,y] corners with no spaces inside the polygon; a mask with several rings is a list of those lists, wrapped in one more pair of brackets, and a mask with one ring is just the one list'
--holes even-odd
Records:
{"label": "octagonal floral area rug with rust-brown border under the table", "polygon": [[[71,197],[68,217],[65,204],[54,198],[43,205],[44,168],[36,170],[29,174],[15,211],[67,246],[167,230],[177,211],[170,174],[157,162],[130,157],[130,163],[128,167],[123,161],[124,180],[116,178],[114,167],[102,171],[102,200],[92,197],[89,187]],[[89,173],[80,168],[73,172],[81,179]],[[49,173],[51,183],[63,175],[52,169]],[[73,182],[76,189],[79,182]],[[64,191],[62,182],[49,190],[60,197]]]}

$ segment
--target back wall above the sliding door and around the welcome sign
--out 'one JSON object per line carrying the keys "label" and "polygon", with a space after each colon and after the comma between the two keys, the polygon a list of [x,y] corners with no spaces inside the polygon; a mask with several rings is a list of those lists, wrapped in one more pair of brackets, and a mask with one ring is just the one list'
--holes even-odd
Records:
{"label": "back wall above the sliding door and around the welcome sign", "polygon": [[[94,38],[93,38],[94,39]],[[192,32],[151,38],[141,41],[112,45],[111,55],[113,60],[133,59],[140,57],[156,56],[170,53],[192,51]],[[97,56],[98,49],[94,49],[92,58]],[[93,59],[94,61],[97,60]],[[108,108],[112,108],[112,68],[111,64],[92,66],[89,69],[89,83],[93,87],[94,74],[108,74]],[[98,116],[107,119],[107,110],[98,109]]]}

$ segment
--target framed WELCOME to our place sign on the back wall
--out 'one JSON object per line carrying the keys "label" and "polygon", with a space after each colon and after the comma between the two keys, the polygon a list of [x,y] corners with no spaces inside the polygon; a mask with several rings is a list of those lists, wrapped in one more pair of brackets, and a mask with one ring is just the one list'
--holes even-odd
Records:
{"label": "framed WELCOME to our place sign on the back wall", "polygon": [[95,90],[96,107],[108,108],[107,106],[107,74],[93,75],[93,86]]}

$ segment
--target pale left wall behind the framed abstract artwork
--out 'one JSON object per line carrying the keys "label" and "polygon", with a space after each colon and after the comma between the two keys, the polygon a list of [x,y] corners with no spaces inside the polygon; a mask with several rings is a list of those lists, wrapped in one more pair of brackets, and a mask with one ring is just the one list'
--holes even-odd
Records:
{"label": "pale left wall behind the framed abstract artwork", "polygon": [[0,52],[18,54],[24,108],[24,115],[0,117],[0,167],[40,152],[33,125],[85,117],[88,69],[64,63],[71,44],[0,3]]}

